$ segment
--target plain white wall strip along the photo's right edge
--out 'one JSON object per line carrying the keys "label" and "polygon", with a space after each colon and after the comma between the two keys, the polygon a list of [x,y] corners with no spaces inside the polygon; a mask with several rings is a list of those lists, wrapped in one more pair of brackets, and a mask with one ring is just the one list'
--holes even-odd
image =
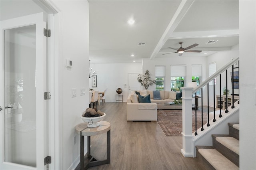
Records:
{"label": "plain white wall strip along the photo's right edge", "polygon": [[256,2],[239,1],[240,169],[256,169]]}

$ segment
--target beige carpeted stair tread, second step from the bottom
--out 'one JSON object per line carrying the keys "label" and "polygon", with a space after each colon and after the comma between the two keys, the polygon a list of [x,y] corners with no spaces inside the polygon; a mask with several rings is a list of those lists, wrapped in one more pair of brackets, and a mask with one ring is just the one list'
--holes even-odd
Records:
{"label": "beige carpeted stair tread, second step from the bottom", "polygon": [[239,155],[239,140],[226,134],[212,134],[212,137],[220,144]]}

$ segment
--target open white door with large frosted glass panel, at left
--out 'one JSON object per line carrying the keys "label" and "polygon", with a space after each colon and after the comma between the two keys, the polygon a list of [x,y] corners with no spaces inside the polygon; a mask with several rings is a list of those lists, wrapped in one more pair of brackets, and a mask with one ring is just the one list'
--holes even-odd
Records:
{"label": "open white door with large frosted glass panel, at left", "polygon": [[0,169],[46,169],[43,13],[1,21]]}

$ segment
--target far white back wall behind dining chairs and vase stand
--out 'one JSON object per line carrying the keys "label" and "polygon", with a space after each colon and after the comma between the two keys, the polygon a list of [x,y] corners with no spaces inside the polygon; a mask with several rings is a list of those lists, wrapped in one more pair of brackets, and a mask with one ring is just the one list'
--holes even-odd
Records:
{"label": "far white back wall behind dining chairs and vase stand", "polygon": [[[97,71],[97,87],[92,87],[92,78],[86,78],[89,87],[99,91],[108,89],[105,102],[116,102],[116,89],[119,87],[123,90],[123,102],[126,102],[129,93],[128,73],[141,73],[141,63],[90,63],[90,67]],[[88,77],[88,71],[86,73]]]}

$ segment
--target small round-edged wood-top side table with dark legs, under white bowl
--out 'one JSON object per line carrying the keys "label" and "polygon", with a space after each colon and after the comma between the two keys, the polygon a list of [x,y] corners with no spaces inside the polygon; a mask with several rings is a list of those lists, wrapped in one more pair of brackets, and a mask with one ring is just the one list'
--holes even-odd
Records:
{"label": "small round-edged wood-top side table with dark legs, under white bowl", "polygon": [[[87,127],[87,123],[80,123],[76,126],[76,132],[80,134],[80,167],[76,169],[87,170],[89,167],[98,166],[103,164],[110,164],[110,123],[100,121],[98,127]],[[91,155],[91,136],[103,134],[107,132],[107,159],[98,160]],[[87,136],[87,157],[88,163],[84,164],[84,136]]]}

